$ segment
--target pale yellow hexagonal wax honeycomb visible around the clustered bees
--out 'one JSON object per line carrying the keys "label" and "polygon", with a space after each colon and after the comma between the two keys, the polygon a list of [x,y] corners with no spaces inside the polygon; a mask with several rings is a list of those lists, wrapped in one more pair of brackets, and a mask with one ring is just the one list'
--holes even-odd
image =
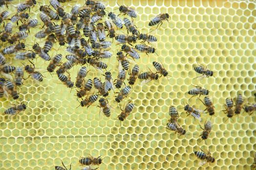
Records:
{"label": "pale yellow hexagonal wax honeycomb visible around the clustered bees", "polygon": [[[49,2],[45,0],[45,4]],[[141,55],[139,65],[147,70],[153,61],[160,61],[171,72],[169,79],[147,85],[135,85],[130,99],[135,103],[134,113],[120,127],[115,120],[120,108],[113,97],[108,100],[114,107],[111,119],[99,116],[99,108],[78,107],[76,91],[69,91],[64,85],[54,83],[57,79],[44,72],[42,83],[31,79],[21,86],[21,99],[28,102],[24,113],[17,116],[0,115],[0,167],[2,170],[53,170],[72,163],[72,170],[79,170],[78,160],[87,153],[104,158],[99,170],[195,170],[199,160],[194,151],[199,146],[208,149],[217,158],[199,170],[249,170],[253,169],[256,151],[256,116],[241,114],[226,121],[221,112],[227,97],[238,93],[246,102],[255,102],[256,93],[256,2],[254,0],[117,0],[136,8],[138,17],[134,20],[142,33],[152,30],[148,23],[159,13],[168,13],[169,22],[154,32],[158,41],[153,46],[157,55]],[[14,0],[14,4],[19,1]],[[42,3],[42,2],[41,2]],[[78,3],[84,4],[83,0]],[[75,2],[64,3],[70,11]],[[107,11],[117,9],[114,0],[107,1]],[[1,10],[6,9],[2,7]],[[15,13],[14,5],[9,11]],[[39,18],[39,6],[31,9],[30,17]],[[1,26],[2,28],[2,26]],[[33,45],[41,26],[31,30],[26,44]],[[42,42],[36,40],[40,45]],[[118,46],[113,47],[116,51]],[[54,56],[62,51],[56,46],[50,53]],[[62,51],[63,52],[63,51]],[[64,54],[63,54],[64,55]],[[20,62],[10,60],[15,65]],[[46,71],[47,63],[36,59],[36,67]],[[193,70],[196,63],[207,65],[215,71],[216,78],[193,79],[198,76]],[[117,61],[113,56],[107,61],[114,68]],[[112,70],[117,76],[117,68]],[[77,70],[72,70],[76,73]],[[90,77],[101,77],[96,71]],[[103,78],[103,77],[102,77]],[[201,141],[199,121],[187,117],[179,109],[179,124],[187,131],[178,136],[166,130],[169,106],[182,108],[183,102],[204,106],[197,98],[189,100],[185,93],[192,85],[201,85],[210,90],[216,113],[212,117],[213,129],[207,145]],[[21,102],[21,101],[19,101]],[[128,101],[126,101],[128,102]],[[3,113],[10,104],[0,99]],[[97,102],[96,102],[97,103]],[[124,102],[122,103],[122,105]],[[208,115],[203,115],[203,125]],[[224,122],[226,121],[226,122]],[[207,167],[207,168],[206,168]]]}

